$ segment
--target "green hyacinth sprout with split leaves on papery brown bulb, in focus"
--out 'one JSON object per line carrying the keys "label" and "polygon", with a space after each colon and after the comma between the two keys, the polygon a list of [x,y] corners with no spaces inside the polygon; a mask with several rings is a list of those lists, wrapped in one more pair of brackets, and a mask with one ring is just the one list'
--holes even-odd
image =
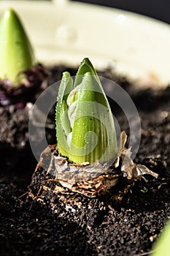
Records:
{"label": "green hyacinth sprout with split leaves on papery brown bulb, in focus", "polygon": [[73,80],[63,72],[56,106],[58,151],[70,162],[112,162],[117,154],[115,123],[96,70],[85,58]]}

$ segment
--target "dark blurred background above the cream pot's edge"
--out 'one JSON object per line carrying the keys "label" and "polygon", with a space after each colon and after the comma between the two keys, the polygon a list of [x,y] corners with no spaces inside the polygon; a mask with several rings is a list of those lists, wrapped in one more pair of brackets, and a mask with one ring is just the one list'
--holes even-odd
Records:
{"label": "dark blurred background above the cream pot's edge", "polygon": [[[75,0],[72,0],[75,1]],[[170,0],[79,0],[90,4],[115,7],[156,18],[170,24]]]}

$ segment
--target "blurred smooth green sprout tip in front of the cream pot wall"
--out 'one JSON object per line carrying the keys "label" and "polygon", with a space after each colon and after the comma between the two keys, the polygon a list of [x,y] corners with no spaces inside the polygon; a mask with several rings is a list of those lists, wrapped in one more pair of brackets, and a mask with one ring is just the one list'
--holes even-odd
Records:
{"label": "blurred smooth green sprout tip in front of the cream pot wall", "polygon": [[34,50],[16,12],[6,10],[0,18],[0,79],[18,86],[23,71],[35,64]]}

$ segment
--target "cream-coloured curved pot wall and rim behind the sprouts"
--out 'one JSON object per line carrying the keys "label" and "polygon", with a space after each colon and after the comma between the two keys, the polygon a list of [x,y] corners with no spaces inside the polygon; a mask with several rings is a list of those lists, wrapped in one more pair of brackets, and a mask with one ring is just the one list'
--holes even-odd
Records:
{"label": "cream-coloured curved pot wall and rim behind the sprouts", "polygon": [[8,7],[20,15],[43,64],[77,67],[88,57],[96,69],[112,67],[138,85],[170,83],[169,24],[69,0],[1,1],[0,15]]}

